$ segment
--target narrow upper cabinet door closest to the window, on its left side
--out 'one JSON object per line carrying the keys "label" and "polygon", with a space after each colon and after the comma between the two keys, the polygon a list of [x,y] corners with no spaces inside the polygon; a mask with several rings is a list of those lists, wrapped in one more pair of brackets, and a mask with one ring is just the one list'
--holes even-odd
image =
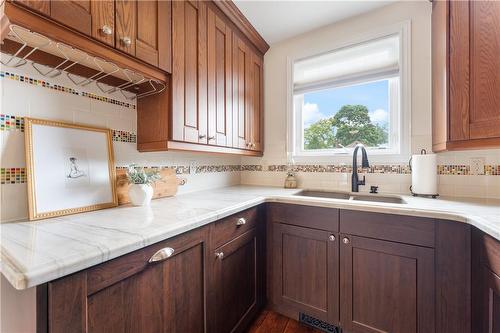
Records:
{"label": "narrow upper cabinet door closest to the window, on its left side", "polygon": [[251,150],[262,151],[262,105],[263,105],[262,57],[251,52],[248,74],[248,132]]}

